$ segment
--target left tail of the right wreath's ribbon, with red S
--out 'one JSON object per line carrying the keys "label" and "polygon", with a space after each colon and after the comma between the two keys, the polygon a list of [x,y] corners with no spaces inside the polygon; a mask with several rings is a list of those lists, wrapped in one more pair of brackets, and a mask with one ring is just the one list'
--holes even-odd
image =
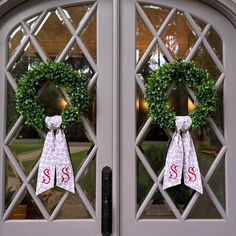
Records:
{"label": "left tail of the right wreath's ribbon, with red S", "polygon": [[175,132],[166,156],[163,189],[181,184],[183,170],[183,142],[179,132]]}

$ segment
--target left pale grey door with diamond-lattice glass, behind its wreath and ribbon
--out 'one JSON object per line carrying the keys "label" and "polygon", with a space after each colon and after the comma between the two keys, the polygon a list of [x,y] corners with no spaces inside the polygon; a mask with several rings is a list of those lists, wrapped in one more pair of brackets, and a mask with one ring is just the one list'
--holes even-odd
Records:
{"label": "left pale grey door with diamond-lattice glass, behind its wreath and ribbon", "polygon": [[[112,32],[106,0],[28,1],[1,19],[0,235],[101,235],[101,173],[113,155]],[[55,187],[35,195],[46,130],[26,126],[15,110],[21,75],[47,60],[68,63],[89,80],[88,115],[66,130],[75,194]],[[55,84],[38,97],[47,115],[67,105]]]}

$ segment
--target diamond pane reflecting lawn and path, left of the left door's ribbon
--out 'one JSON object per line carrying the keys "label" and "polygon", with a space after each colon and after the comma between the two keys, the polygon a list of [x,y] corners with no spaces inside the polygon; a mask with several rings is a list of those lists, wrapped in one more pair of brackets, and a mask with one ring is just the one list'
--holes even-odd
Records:
{"label": "diamond pane reflecting lawn and path, left of the left door's ribbon", "polygon": [[26,174],[29,174],[37,163],[43,142],[36,129],[26,125],[23,125],[11,142],[10,148]]}

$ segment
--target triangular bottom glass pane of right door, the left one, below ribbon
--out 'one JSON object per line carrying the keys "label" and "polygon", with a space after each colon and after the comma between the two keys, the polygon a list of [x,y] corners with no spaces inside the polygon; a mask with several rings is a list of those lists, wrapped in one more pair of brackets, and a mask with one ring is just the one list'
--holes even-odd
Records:
{"label": "triangular bottom glass pane of right door, the left one, below ribbon", "polygon": [[142,219],[175,219],[164,197],[157,191],[145,208]]}

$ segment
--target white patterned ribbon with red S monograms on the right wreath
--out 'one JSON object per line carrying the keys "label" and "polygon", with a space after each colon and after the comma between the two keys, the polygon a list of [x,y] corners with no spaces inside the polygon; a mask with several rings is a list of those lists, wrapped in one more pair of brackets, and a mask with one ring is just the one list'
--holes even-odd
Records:
{"label": "white patterned ribbon with red S monograms on the right wreath", "polygon": [[176,117],[176,131],[172,137],[165,164],[163,189],[184,184],[203,193],[200,169],[193,140],[189,133],[192,120],[189,116]]}

